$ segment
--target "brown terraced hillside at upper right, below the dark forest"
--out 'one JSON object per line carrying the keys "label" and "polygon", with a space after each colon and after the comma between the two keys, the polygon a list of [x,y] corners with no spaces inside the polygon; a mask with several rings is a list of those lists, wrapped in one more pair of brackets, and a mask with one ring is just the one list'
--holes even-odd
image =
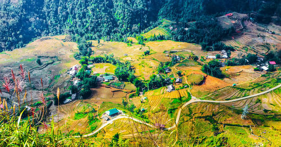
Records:
{"label": "brown terraced hillside at upper right, below the dark forest", "polygon": [[[269,50],[281,49],[281,28],[278,25],[260,25],[251,21],[253,14],[230,13],[218,17],[224,28],[234,27],[236,34],[222,41],[238,52],[257,53],[264,56]],[[274,32],[274,33],[272,33]]]}

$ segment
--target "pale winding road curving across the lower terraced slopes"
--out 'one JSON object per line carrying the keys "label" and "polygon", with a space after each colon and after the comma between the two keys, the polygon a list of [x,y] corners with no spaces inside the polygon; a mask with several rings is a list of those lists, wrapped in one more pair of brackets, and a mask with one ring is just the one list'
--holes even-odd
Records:
{"label": "pale winding road curving across the lower terraced slopes", "polygon": [[[269,93],[277,88],[280,88],[281,87],[281,84],[276,86],[276,87],[273,87],[269,90],[266,90],[264,92],[261,92],[261,93],[258,93],[258,94],[254,94],[254,95],[251,95],[251,96],[247,96],[247,97],[242,97],[242,98],[235,98],[235,99],[231,99],[231,100],[220,100],[220,101],[216,101],[216,100],[201,100],[201,99],[198,99],[198,98],[195,98],[193,96],[191,96],[191,100],[187,101],[186,103],[184,103],[180,108],[179,108],[179,112],[178,112],[178,115],[177,115],[177,118],[176,118],[176,124],[178,125],[179,124],[179,119],[180,119],[180,114],[181,114],[181,110],[183,108],[185,108],[187,105],[191,104],[191,103],[194,103],[194,102],[210,102],[210,103],[230,103],[230,102],[235,102],[235,101],[239,101],[239,100],[243,100],[243,99],[247,99],[247,98],[253,98],[253,97],[256,97],[256,96],[260,96],[260,95],[263,95],[263,94],[266,94],[266,93]],[[189,89],[190,90],[190,89]],[[114,121],[118,120],[118,119],[131,119],[135,122],[138,122],[138,123],[142,123],[142,124],[145,124],[147,126],[150,126],[150,127],[154,127],[152,124],[149,124],[149,123],[145,123],[141,120],[138,120],[138,119],[135,119],[133,117],[129,117],[128,115],[122,115],[122,116],[119,116],[119,117],[116,117],[110,121],[108,121],[107,123],[104,123],[102,124],[102,126],[100,128],[98,128],[97,130],[95,130],[94,132],[90,133],[90,134],[86,134],[86,135],[83,135],[82,137],[89,137],[89,136],[92,136],[92,135],[95,135],[96,133],[98,133],[100,130],[102,130],[102,128],[104,128],[106,125],[108,124],[111,124],[113,123]],[[174,129],[176,127],[176,124],[174,124],[173,126],[171,127],[167,127],[167,128],[163,128],[164,130],[171,130],[171,129]],[[80,136],[74,136],[75,138],[79,138]]]}

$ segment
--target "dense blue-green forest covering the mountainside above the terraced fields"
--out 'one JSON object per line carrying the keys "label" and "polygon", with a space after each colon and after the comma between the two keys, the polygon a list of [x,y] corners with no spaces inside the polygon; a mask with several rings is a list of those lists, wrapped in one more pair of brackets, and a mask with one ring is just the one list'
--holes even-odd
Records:
{"label": "dense blue-green forest covering the mountainside above the terraced fields", "polygon": [[[266,23],[269,16],[281,14],[280,0],[0,0],[0,51],[59,34],[125,41],[126,36],[140,34],[162,19],[182,25],[198,21],[199,31],[204,31],[204,26],[217,29],[213,19],[204,25],[202,18],[232,11],[260,12],[258,20]],[[217,34],[224,33],[219,30]],[[190,39],[190,34],[179,32],[173,39],[202,42]],[[206,40],[209,45],[215,41]]]}

